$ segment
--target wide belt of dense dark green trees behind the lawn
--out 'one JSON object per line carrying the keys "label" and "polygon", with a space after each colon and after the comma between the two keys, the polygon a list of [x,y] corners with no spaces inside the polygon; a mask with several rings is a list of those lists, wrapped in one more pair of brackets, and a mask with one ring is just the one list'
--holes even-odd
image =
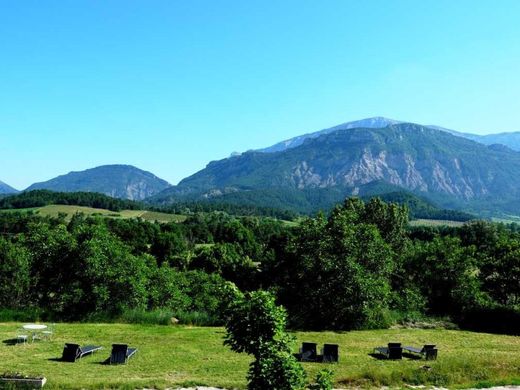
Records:
{"label": "wide belt of dense dark green trees behind the lawn", "polygon": [[292,224],[223,212],[168,224],[2,212],[0,306],[57,319],[159,310],[222,323],[232,283],[272,291],[297,328],[435,316],[518,332],[518,225],[410,228],[407,219],[405,207],[378,199]]}

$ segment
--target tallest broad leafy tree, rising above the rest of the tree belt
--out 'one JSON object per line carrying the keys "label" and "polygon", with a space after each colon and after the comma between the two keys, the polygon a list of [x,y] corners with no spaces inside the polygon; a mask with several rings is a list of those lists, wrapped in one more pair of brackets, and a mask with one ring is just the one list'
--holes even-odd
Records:
{"label": "tallest broad leafy tree, rising above the rest of the tree belt", "polygon": [[353,329],[385,326],[394,252],[363,202],[347,201],[325,219],[303,222],[289,244],[294,266],[280,296],[299,326]]}

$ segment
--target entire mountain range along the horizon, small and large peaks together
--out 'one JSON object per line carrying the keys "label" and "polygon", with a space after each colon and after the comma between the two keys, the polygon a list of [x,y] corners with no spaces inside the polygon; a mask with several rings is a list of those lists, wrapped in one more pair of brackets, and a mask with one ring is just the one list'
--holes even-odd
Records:
{"label": "entire mountain range along the horizon, small and large peaks together", "polygon": [[133,166],[105,165],[27,190],[299,212],[327,209],[346,196],[406,192],[445,208],[520,215],[520,152],[514,149],[520,149],[520,133],[480,136],[374,117],[212,161],[176,186]]}

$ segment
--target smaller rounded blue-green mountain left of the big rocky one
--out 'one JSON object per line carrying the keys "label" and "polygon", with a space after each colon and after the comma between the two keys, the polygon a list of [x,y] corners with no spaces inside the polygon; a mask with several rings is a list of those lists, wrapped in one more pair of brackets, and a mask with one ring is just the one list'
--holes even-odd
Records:
{"label": "smaller rounded blue-green mountain left of the big rocky one", "polygon": [[80,172],[70,172],[42,183],[35,183],[27,191],[47,189],[61,192],[99,192],[114,198],[142,200],[170,184],[154,174],[131,165],[103,165]]}

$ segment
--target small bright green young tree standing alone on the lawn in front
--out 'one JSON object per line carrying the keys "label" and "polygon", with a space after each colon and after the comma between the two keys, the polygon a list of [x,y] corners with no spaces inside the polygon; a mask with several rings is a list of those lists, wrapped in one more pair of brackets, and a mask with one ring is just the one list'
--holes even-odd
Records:
{"label": "small bright green young tree standing alone on the lawn in front", "polygon": [[253,355],[250,390],[297,390],[305,387],[305,371],[291,354],[287,314],[266,291],[236,294],[227,310],[225,345]]}

